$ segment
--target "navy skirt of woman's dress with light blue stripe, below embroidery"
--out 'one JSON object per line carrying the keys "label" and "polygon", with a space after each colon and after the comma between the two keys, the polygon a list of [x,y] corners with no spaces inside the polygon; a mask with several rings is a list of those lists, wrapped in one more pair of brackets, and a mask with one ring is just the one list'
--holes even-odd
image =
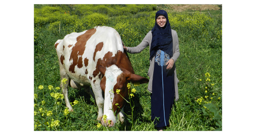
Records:
{"label": "navy skirt of woman's dress with light blue stripe, below embroidery", "polygon": [[174,68],[167,70],[167,66],[159,66],[157,62],[154,63],[151,120],[154,121],[155,127],[165,127],[170,125],[169,118],[174,102]]}

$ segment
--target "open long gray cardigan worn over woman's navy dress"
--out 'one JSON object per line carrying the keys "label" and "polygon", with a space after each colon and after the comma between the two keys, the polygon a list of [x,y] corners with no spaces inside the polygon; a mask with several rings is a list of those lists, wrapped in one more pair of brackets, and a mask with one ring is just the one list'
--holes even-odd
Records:
{"label": "open long gray cardigan worn over woman's navy dress", "polygon": [[[173,51],[173,57],[171,57],[171,59],[173,59],[173,61],[174,61],[173,68],[175,68],[175,70],[174,70],[175,101],[178,101],[178,99],[179,99],[179,95],[178,95],[178,82],[179,82],[179,80],[178,80],[177,74],[176,74],[175,62],[177,61],[178,57],[180,56],[180,49],[179,49],[179,40],[178,40],[177,32],[175,30],[171,30],[171,34],[173,36],[173,50],[174,50]],[[136,47],[127,47],[127,49],[128,49],[127,52],[129,52],[131,54],[139,53],[143,49],[145,49],[147,46],[149,46],[149,50],[150,50],[151,40],[152,40],[152,33],[151,33],[151,30],[150,30],[138,46],[136,46]],[[149,76],[149,86],[148,86],[147,90],[150,93],[152,93],[152,80],[153,80],[154,59],[155,59],[155,57],[153,57],[152,59],[153,59],[153,61],[150,60],[149,71],[147,73],[147,75]]]}

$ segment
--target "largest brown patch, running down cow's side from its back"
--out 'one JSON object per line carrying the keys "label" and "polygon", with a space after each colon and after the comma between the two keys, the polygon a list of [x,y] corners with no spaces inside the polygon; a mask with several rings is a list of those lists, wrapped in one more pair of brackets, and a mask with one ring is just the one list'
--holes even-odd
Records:
{"label": "largest brown patch, running down cow's side from its back", "polygon": [[79,60],[79,56],[83,55],[83,53],[85,52],[86,42],[90,39],[90,37],[92,37],[93,34],[95,34],[95,32],[96,29],[93,28],[87,30],[84,34],[76,38],[77,42],[76,44],[74,44],[69,58],[69,61],[73,59],[73,63],[69,66],[69,71],[71,73],[75,73],[74,68],[76,65],[79,64],[79,66],[81,67],[82,61]]}

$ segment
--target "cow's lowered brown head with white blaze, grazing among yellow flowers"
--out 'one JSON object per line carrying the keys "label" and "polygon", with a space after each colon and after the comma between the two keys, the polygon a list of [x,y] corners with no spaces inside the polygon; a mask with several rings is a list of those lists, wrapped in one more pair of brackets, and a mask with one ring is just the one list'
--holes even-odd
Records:
{"label": "cow's lowered brown head with white blaze, grazing among yellow flowers", "polygon": [[[105,120],[106,122],[104,121],[104,118],[102,118],[101,123],[102,125],[107,124],[109,125],[109,127],[113,127],[114,123],[116,123],[117,114],[126,103],[126,101],[121,96],[123,96],[127,100],[128,94],[130,93],[130,89],[127,88],[127,84],[130,82],[139,82],[140,84],[148,83],[149,79],[139,76],[137,74],[132,74],[124,68],[119,68],[115,64],[107,68],[99,66],[99,70],[102,74],[104,74],[104,77],[100,82],[100,88],[105,93],[103,116],[107,116],[107,119]],[[119,93],[121,96],[116,93],[116,89],[120,90]],[[120,109],[118,108],[116,103],[118,103]],[[108,123],[109,120],[111,121],[111,123]]]}

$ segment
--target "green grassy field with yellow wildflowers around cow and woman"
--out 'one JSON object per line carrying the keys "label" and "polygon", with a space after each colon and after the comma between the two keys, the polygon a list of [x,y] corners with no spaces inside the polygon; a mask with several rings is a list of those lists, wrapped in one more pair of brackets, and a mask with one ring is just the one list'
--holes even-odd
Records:
{"label": "green grassy field with yellow wildflowers around cow and woman", "polygon": [[[137,90],[131,102],[133,109],[126,104],[124,111],[128,116],[125,122],[112,128],[97,127],[100,123],[96,120],[98,108],[85,91],[69,88],[69,101],[73,102],[74,111],[65,111],[66,104],[61,95],[54,98],[57,93],[61,94],[61,89],[56,88],[60,86],[61,78],[54,43],[67,34],[99,25],[116,29],[125,46],[135,47],[154,26],[155,14],[160,9],[168,12],[171,28],[178,34],[180,47],[180,57],[176,61],[180,98],[173,106],[170,127],[166,130],[222,130],[220,10],[177,12],[170,7],[34,5],[34,130],[156,131],[150,120],[148,84],[132,85]],[[149,78],[149,47],[139,54],[128,56],[135,74]],[[49,85],[53,88],[49,88]]]}

